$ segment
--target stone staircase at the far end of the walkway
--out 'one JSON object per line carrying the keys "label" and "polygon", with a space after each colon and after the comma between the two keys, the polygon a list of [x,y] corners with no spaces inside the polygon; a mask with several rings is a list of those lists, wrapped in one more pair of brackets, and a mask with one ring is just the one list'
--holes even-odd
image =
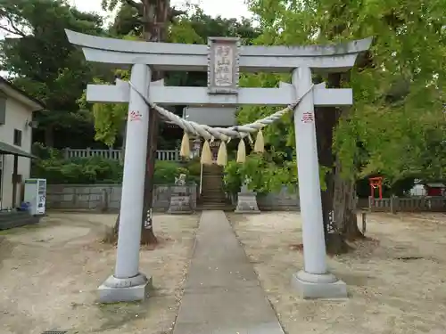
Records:
{"label": "stone staircase at the far end of the walkway", "polygon": [[198,199],[199,210],[234,210],[223,190],[223,167],[203,165],[202,193]]}

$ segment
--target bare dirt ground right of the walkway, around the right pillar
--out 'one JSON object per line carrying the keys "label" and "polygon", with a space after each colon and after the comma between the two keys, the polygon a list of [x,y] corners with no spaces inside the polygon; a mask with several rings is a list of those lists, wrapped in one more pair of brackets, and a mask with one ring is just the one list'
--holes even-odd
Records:
{"label": "bare dirt ground right of the walkway, around the right pillar", "polygon": [[343,301],[305,301],[291,288],[302,267],[297,213],[230,215],[288,334],[446,333],[446,215],[368,216],[368,237],[328,260],[348,284]]}

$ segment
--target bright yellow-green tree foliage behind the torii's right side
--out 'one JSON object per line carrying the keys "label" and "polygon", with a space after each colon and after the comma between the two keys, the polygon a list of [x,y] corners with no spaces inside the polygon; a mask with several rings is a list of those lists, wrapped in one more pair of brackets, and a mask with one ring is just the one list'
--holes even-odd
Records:
{"label": "bright yellow-green tree foliage behind the torii's right side", "polygon": [[[335,131],[334,148],[350,171],[361,150],[358,176],[381,173],[389,183],[408,177],[444,178],[446,122],[445,0],[250,0],[262,34],[259,45],[309,45],[375,37],[371,53],[351,71],[354,105]],[[342,50],[341,50],[342,51]],[[322,77],[324,79],[324,77]],[[275,86],[276,75],[250,75],[245,86]],[[247,107],[244,123],[272,110]],[[293,124],[267,128],[277,151],[293,145]],[[287,139],[285,141],[285,138]],[[364,155],[361,155],[364,158]],[[351,175],[350,175],[351,176]]]}

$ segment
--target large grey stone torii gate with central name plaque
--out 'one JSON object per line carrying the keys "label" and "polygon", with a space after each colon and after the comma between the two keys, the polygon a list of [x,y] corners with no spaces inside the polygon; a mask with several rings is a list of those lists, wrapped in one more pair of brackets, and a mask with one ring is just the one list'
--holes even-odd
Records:
{"label": "large grey stone torii gate with central name plaque", "polygon": [[[372,38],[343,45],[241,46],[238,38],[210,37],[208,45],[135,42],[95,37],[66,30],[87,61],[131,66],[130,81],[115,86],[88,85],[89,102],[128,102],[126,155],[120,202],[120,231],[114,274],[99,287],[103,302],[142,300],[152,278],[139,273],[139,242],[144,196],[149,108],[136,92],[163,105],[286,105],[312,86],[314,72],[344,72],[367,51]],[[224,54],[222,54],[224,53]],[[152,70],[208,72],[208,87],[151,84]],[[239,88],[239,71],[292,72],[292,84],[278,88]],[[304,269],[293,275],[302,297],[347,297],[346,285],[326,268],[326,244],[320,199],[314,106],[352,104],[351,89],[315,86],[294,110]]]}

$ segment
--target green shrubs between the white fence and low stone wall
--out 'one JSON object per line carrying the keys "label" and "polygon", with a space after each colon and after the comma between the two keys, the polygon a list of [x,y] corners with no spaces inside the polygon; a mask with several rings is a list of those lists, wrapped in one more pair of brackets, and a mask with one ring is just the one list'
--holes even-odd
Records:
{"label": "green shrubs between the white fence and low stone wall", "polygon": [[[123,166],[118,160],[101,157],[64,159],[61,151],[34,145],[39,157],[32,163],[32,177],[44,178],[48,183],[92,184],[121,183]],[[188,183],[198,183],[200,161],[185,163],[156,161],[153,175],[155,184],[173,184],[175,177],[186,175]]]}

